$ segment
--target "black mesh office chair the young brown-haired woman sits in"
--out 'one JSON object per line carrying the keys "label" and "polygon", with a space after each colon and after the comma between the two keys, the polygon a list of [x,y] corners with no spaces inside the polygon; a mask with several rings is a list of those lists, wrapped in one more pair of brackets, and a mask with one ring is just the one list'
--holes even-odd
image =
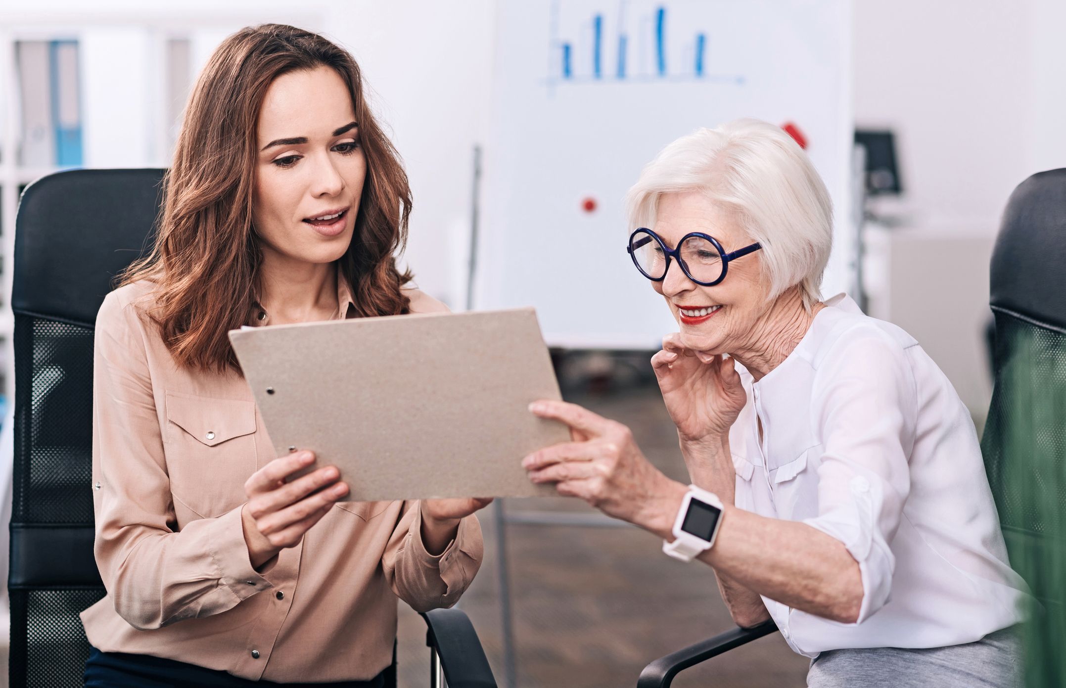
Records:
{"label": "black mesh office chair the young brown-haired woman sits in", "polygon": [[[104,594],[93,557],[93,327],[114,276],[148,245],[162,170],[79,170],[22,194],[15,223],[12,688],[82,685],[82,609]],[[433,682],[495,688],[457,609],[422,614]],[[394,667],[392,684],[395,684]]]}

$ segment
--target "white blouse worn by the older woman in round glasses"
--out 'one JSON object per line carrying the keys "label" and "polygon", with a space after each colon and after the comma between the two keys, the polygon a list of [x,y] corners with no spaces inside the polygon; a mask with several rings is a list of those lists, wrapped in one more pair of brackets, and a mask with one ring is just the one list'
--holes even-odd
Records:
{"label": "white blouse worn by the older woman in round glasses", "polygon": [[900,327],[844,294],[826,305],[759,382],[737,364],[748,395],[729,434],[737,507],[828,533],[862,576],[854,624],[763,597],[781,635],[814,657],[955,645],[1021,621],[1028,589],[955,389]]}

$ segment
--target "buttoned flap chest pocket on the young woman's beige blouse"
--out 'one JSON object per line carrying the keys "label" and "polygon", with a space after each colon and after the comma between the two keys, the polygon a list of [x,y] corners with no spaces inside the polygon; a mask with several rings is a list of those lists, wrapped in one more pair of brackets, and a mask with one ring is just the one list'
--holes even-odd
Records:
{"label": "buttoned flap chest pocket on the young woman's beige blouse", "polygon": [[182,507],[211,518],[246,499],[244,482],[256,471],[256,404],[166,394],[166,468],[179,525]]}

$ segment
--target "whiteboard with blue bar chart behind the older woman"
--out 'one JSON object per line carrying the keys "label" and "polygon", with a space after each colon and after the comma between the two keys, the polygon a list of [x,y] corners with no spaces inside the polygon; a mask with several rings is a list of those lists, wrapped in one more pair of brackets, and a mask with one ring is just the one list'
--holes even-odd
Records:
{"label": "whiteboard with blue bar chart behind the older woman", "polygon": [[623,197],[667,143],[741,116],[807,138],[835,204],[823,291],[850,286],[850,22],[849,0],[499,2],[475,306],[535,306],[551,346],[658,348],[677,324]]}

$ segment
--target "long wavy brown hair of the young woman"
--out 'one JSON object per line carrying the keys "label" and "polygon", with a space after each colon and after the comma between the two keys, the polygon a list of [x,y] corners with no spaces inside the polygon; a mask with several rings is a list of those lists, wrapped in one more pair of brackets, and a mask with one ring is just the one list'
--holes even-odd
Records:
{"label": "long wavy brown hair of the young woman", "polygon": [[407,313],[400,289],[411,275],[393,256],[406,244],[410,188],[364,98],[359,66],[318,34],[248,27],[223,41],[200,74],[164,180],[155,246],[119,278],[155,283],[149,315],[181,366],[239,369],[227,332],[247,322],[262,260],[252,222],[259,111],[274,79],[320,66],[348,84],[367,158],[355,233],[337,278],[348,281],[361,317]]}

